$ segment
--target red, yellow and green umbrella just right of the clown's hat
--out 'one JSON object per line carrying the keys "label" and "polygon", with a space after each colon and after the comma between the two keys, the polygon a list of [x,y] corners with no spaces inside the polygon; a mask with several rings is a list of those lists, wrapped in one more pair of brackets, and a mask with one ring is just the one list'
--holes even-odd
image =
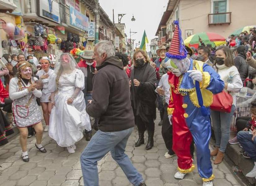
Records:
{"label": "red, yellow and green umbrella just right of the clown's hat", "polygon": [[205,45],[211,44],[212,47],[218,47],[226,44],[226,39],[214,32],[202,32],[189,36],[184,40],[184,44],[190,47],[199,47],[199,37],[202,39]]}

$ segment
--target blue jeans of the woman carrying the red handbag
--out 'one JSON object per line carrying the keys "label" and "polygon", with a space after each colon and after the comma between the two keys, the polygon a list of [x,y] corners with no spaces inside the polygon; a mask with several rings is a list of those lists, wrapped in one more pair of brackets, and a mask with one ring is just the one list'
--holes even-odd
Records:
{"label": "blue jeans of the woman carrying the red handbag", "polygon": [[235,105],[232,105],[230,113],[218,112],[211,110],[213,122],[213,130],[215,135],[215,146],[219,147],[219,151],[224,153],[230,135],[231,119],[235,111]]}

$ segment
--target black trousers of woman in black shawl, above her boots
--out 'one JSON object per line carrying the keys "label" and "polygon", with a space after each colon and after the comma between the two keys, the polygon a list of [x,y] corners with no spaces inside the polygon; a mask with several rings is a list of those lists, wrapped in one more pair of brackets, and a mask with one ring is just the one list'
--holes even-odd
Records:
{"label": "black trousers of woman in black shawl, above her boots", "polygon": [[149,122],[144,122],[140,116],[135,117],[135,124],[138,126],[138,131],[145,132],[146,129],[149,131],[155,131],[155,123],[153,116],[146,115]]}

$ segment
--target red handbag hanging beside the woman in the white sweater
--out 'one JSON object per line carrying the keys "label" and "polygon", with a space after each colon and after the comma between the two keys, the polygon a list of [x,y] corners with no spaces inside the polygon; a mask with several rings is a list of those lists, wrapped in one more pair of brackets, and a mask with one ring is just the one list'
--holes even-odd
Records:
{"label": "red handbag hanging beside the woman in the white sweater", "polygon": [[233,97],[222,91],[221,93],[213,95],[213,103],[210,106],[211,110],[230,113],[233,104]]}

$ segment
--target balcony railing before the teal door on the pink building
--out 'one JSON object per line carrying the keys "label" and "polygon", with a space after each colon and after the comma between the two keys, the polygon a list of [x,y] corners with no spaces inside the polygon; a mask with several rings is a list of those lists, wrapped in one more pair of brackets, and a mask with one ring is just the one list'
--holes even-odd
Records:
{"label": "balcony railing before the teal door on the pink building", "polygon": [[231,12],[208,14],[208,24],[230,24]]}

